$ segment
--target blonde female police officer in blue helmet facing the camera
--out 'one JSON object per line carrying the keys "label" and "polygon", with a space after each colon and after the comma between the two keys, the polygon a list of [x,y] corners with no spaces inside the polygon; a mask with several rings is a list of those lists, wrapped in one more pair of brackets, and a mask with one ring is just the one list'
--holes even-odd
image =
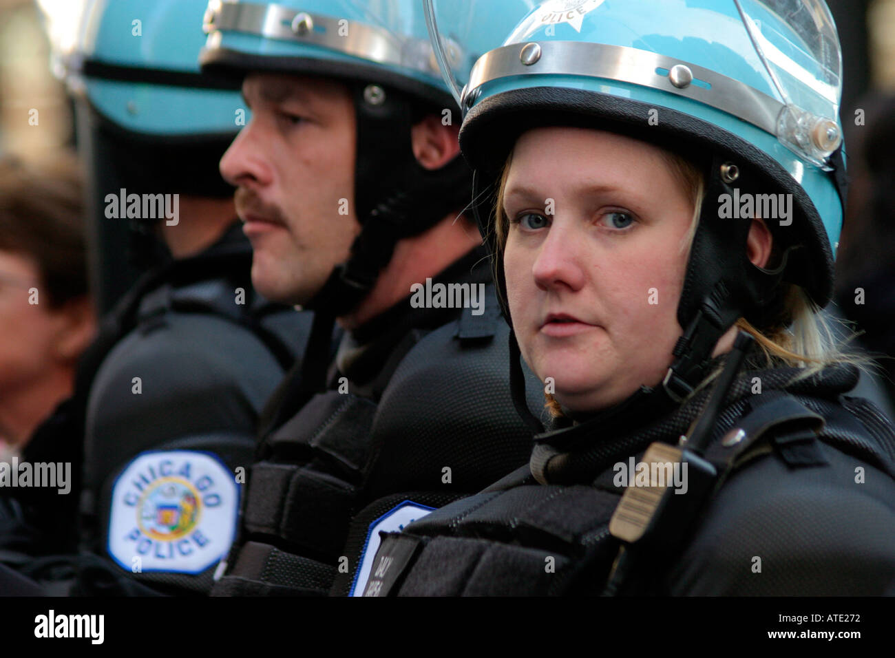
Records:
{"label": "blonde female police officer in blue helmet facing the camera", "polygon": [[[477,59],[430,2],[482,233],[554,416],[530,464],[385,535],[365,593],[881,594],[895,432],[846,394],[821,0],[550,0]],[[458,92],[459,93],[459,92]]]}

